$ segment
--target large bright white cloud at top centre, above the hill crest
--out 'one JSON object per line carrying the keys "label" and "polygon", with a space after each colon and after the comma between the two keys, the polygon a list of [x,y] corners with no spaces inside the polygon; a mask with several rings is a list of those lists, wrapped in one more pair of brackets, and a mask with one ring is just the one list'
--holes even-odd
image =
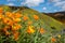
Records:
{"label": "large bright white cloud at top centre, above the hill crest", "polygon": [[21,4],[27,6],[38,6],[40,3],[44,2],[44,0],[25,0]]}

